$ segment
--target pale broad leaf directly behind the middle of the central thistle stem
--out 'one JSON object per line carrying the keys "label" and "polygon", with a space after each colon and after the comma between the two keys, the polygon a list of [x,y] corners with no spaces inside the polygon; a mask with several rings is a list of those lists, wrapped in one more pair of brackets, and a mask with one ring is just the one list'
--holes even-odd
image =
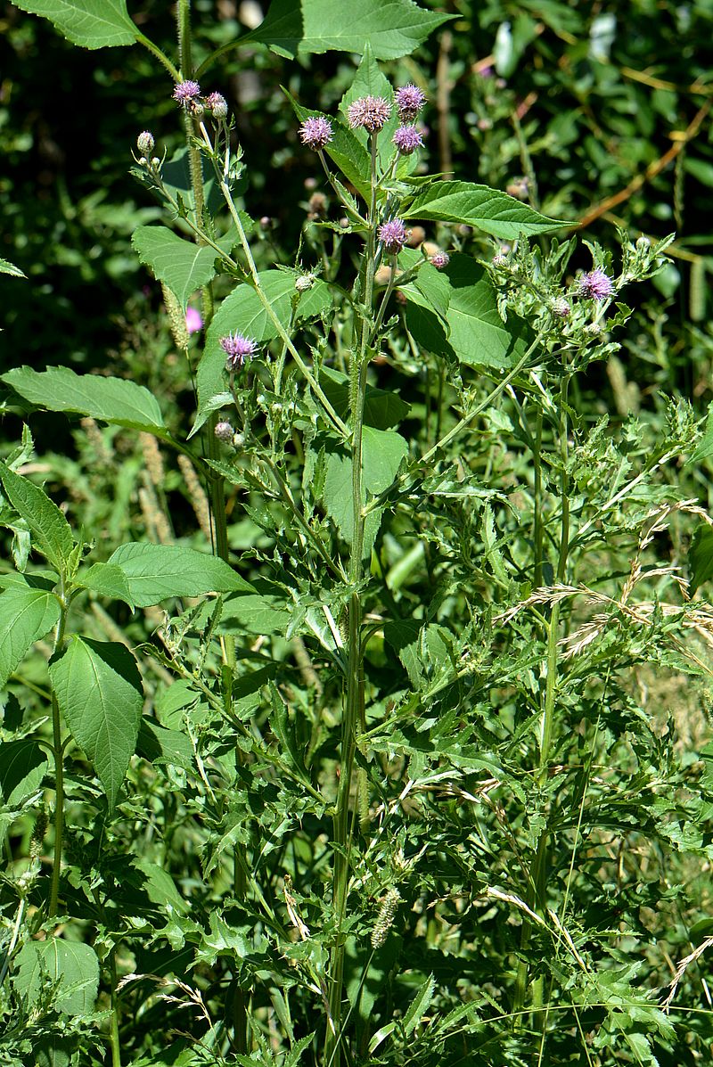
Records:
{"label": "pale broad leaf directly behind the middle of the central thistle stem", "polygon": [[[389,489],[409,451],[408,442],[393,430],[364,427],[362,441],[362,499]],[[322,499],[327,513],[336,523],[345,541],[351,541],[354,516],[351,487],[351,459],[347,451],[334,448],[327,455]],[[364,556],[368,556],[379,531],[381,512],[367,515],[364,525]]]}

